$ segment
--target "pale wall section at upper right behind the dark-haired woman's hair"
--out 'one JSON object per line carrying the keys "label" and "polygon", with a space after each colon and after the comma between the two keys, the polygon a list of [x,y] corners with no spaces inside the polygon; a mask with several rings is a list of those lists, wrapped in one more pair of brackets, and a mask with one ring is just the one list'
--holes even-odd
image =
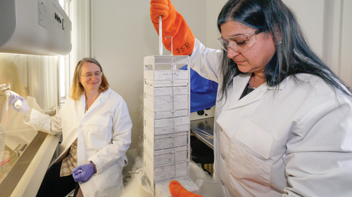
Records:
{"label": "pale wall section at upper right behind the dark-haired woman's hair", "polygon": [[352,1],[283,0],[294,13],[308,44],[346,86],[352,87]]}

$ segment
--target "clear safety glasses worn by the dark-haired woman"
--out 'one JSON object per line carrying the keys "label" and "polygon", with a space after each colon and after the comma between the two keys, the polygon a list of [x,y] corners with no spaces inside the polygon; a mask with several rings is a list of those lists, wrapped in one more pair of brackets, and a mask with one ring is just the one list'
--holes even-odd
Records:
{"label": "clear safety glasses worn by the dark-haired woman", "polygon": [[237,53],[244,53],[251,49],[252,46],[257,42],[256,34],[259,34],[262,32],[262,30],[263,29],[258,29],[255,32],[251,32],[249,34],[220,38],[218,39],[218,43],[220,44],[221,48],[226,51],[228,48],[231,48]]}

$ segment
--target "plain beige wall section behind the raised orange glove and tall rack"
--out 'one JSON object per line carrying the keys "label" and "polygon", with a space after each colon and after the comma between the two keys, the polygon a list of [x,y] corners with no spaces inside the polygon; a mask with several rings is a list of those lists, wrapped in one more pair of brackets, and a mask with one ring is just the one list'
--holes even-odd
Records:
{"label": "plain beige wall section behind the raised orange glove and tall rack", "polygon": [[[206,43],[206,1],[172,4],[194,35]],[[127,102],[133,122],[131,149],[139,147],[143,135],[143,60],[159,53],[149,8],[150,1],[94,1],[92,5],[92,57],[101,63],[111,88]],[[164,48],[163,54],[170,51]]]}

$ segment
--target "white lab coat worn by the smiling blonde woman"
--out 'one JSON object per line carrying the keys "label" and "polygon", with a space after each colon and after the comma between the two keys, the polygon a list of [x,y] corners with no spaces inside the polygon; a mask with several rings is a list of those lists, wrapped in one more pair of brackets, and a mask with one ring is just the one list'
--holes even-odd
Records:
{"label": "white lab coat worn by the smiling blonde woman", "polygon": [[60,153],[64,156],[77,138],[77,165],[92,161],[97,172],[87,182],[80,182],[84,197],[119,196],[123,189],[122,168],[130,147],[132,121],[127,105],[110,88],[101,93],[85,111],[85,96],[66,100],[54,117],[32,109],[30,121],[37,130],[56,135],[63,133]]}

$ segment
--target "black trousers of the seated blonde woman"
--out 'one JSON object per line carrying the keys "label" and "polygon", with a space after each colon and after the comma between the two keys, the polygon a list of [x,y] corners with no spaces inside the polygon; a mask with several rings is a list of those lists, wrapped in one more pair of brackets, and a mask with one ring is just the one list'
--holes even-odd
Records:
{"label": "black trousers of the seated blonde woman", "polygon": [[75,189],[76,182],[72,175],[60,177],[61,162],[55,163],[46,172],[37,197],[63,197]]}

